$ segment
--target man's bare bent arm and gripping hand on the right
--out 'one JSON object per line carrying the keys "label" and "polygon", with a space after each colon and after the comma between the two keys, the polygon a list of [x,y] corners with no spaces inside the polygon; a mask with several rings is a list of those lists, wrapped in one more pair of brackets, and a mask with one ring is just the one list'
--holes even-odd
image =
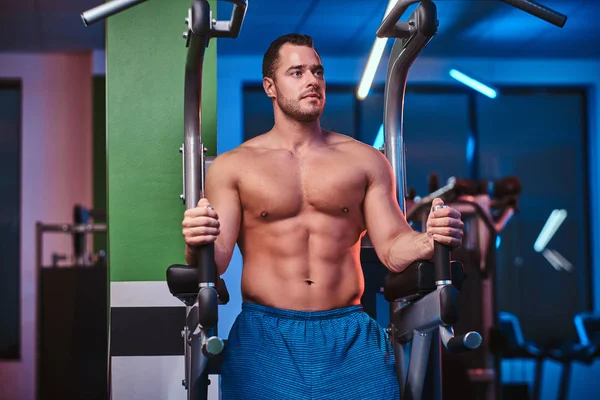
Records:
{"label": "man's bare bent arm and gripping hand on the right", "polygon": [[[412,229],[396,200],[392,168],[376,152],[369,164],[364,214],[369,239],[381,262],[391,271],[401,272],[416,260],[433,259],[434,240],[451,248],[460,246],[463,222],[460,213],[450,207],[430,212],[426,232]],[[432,208],[441,204],[442,200],[435,199]]]}

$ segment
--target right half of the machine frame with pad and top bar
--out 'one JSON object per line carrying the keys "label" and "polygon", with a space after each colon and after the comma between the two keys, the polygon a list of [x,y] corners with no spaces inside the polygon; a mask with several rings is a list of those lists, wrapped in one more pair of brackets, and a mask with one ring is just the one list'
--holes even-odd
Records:
{"label": "right half of the machine frame with pad and top bar", "polygon": [[[531,0],[503,1],[559,27],[566,22],[566,16]],[[416,3],[420,4],[408,22],[399,21],[408,7]],[[396,196],[403,213],[406,198],[403,138],[406,81],[410,66],[437,34],[437,27],[437,8],[432,0],[399,0],[377,30],[377,37],[396,39],[384,93],[384,154],[396,178]],[[417,261],[401,273],[388,274],[384,282],[384,297],[390,302],[387,332],[394,348],[402,399],[441,399],[440,339],[452,352],[468,351],[481,344],[481,335],[477,332],[454,336],[452,325],[458,320],[457,296],[462,266],[450,262],[450,251],[445,246],[435,243],[434,252],[435,264]],[[421,287],[423,282],[427,288]],[[408,343],[411,343],[411,350],[407,368],[405,346]],[[433,387],[428,388],[432,392],[427,396],[423,390],[426,375],[433,383]]]}

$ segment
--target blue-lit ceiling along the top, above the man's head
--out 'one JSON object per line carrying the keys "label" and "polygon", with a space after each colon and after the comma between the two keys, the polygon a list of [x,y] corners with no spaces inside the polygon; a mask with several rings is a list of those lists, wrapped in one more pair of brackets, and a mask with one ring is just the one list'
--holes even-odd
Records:
{"label": "blue-lit ceiling along the top, above the man's head", "polygon": [[[600,58],[600,24],[592,23],[600,18],[600,1],[538,1],[566,14],[565,26],[555,27],[498,0],[434,0],[440,25],[437,36],[422,54]],[[101,2],[0,0],[0,51],[103,49],[104,24],[86,28],[79,17],[82,11]],[[248,0],[240,36],[220,39],[219,53],[262,54],[277,36],[302,32],[313,36],[322,55],[364,56],[371,49],[387,2]],[[220,19],[231,14],[231,3],[219,1],[217,7]]]}

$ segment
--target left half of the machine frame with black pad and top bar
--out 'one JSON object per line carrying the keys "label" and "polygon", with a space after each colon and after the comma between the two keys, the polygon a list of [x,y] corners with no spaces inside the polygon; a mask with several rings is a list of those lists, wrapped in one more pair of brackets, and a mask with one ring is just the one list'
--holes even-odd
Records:
{"label": "left half of the machine frame with black pad and top bar", "polygon": [[[114,0],[82,13],[87,26],[117,14],[146,0]],[[233,3],[231,18],[217,21],[212,18],[208,0],[194,0],[185,22],[188,26],[187,57],[184,87],[183,194],[186,209],[194,208],[204,194],[206,149],[202,142],[202,67],[205,50],[213,38],[236,38],[246,15],[246,0],[227,0]],[[187,398],[207,399],[208,374],[217,367],[217,356],[224,341],[217,336],[218,305],[228,302],[229,294],[218,276],[214,259],[214,244],[198,248],[196,266],[172,265],[167,269],[167,284],[171,293],[186,305],[184,337],[185,380]],[[215,360],[217,362],[210,363]]]}

